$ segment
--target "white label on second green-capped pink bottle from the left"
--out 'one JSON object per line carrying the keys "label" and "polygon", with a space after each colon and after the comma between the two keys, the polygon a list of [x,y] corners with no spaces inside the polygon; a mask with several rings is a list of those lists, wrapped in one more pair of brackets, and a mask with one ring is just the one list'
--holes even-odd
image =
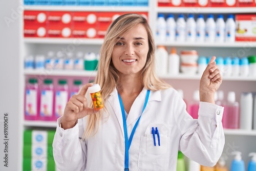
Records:
{"label": "white label on second green-capped pink bottle from the left", "polygon": [[53,91],[42,90],[41,91],[41,102],[40,102],[40,115],[41,116],[52,116],[53,108]]}

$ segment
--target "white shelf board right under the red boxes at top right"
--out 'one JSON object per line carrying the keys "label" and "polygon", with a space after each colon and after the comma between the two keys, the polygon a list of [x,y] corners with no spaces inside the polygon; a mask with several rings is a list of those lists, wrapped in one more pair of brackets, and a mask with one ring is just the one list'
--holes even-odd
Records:
{"label": "white shelf board right under the red boxes at top right", "polygon": [[158,7],[158,13],[255,13],[256,7]]}

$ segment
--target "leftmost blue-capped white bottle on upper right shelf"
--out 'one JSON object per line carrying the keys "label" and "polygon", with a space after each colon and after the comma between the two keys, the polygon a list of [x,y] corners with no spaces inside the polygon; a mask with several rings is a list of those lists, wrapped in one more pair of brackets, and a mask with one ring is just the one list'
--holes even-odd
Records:
{"label": "leftmost blue-capped white bottle on upper right shelf", "polygon": [[166,40],[166,22],[164,14],[158,14],[157,18],[157,40],[164,42]]}

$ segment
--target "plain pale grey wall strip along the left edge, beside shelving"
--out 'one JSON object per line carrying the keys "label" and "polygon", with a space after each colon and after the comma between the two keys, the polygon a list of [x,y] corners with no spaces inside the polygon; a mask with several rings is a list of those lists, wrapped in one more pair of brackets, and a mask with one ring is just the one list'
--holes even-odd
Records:
{"label": "plain pale grey wall strip along the left edge, beside shelving", "polygon": [[[18,0],[0,1],[0,170],[22,170],[19,91],[19,8]],[[9,22],[6,20],[9,19]],[[4,166],[4,113],[8,118],[8,167]]]}

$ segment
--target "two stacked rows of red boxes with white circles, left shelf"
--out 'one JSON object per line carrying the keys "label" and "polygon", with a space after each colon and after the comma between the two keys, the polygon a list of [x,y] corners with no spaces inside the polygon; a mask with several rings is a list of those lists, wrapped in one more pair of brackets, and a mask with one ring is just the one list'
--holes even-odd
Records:
{"label": "two stacked rows of red boxes with white circles, left shelf", "polygon": [[[25,10],[24,37],[103,38],[111,22],[124,13]],[[136,13],[147,17],[147,12]]]}

